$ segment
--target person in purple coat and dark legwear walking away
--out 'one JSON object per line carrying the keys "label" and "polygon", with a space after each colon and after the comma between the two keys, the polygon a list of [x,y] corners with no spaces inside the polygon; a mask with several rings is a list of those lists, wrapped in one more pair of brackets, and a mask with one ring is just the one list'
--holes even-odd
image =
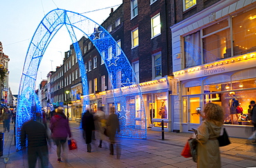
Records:
{"label": "person in purple coat and dark legwear walking away", "polygon": [[51,132],[52,138],[55,144],[57,145],[57,162],[62,162],[60,158],[61,149],[64,150],[64,144],[66,138],[71,138],[71,130],[68,124],[66,115],[63,113],[63,108],[59,106],[56,109],[55,115],[51,118]]}

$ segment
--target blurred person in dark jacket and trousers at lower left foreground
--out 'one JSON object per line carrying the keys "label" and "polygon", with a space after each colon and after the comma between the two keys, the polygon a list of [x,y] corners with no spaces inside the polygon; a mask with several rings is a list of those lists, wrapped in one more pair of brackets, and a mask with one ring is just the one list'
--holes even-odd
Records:
{"label": "blurred person in dark jacket and trousers at lower left foreground", "polygon": [[26,147],[28,138],[28,167],[34,168],[39,158],[41,167],[48,167],[48,136],[46,127],[33,119],[25,122],[21,128],[21,147]]}

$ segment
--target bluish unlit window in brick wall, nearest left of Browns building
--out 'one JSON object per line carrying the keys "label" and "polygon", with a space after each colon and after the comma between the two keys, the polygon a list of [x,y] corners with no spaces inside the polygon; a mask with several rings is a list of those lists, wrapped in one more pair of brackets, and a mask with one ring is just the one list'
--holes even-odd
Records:
{"label": "bluish unlit window in brick wall, nearest left of Browns building", "polygon": [[155,77],[161,77],[162,76],[162,55],[161,52],[155,53],[152,55],[153,59],[153,79]]}

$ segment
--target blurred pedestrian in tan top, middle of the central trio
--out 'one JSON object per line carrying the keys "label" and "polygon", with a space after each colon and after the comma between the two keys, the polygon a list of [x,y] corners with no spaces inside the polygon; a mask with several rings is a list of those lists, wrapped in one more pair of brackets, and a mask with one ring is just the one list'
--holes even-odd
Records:
{"label": "blurred pedestrian in tan top, middle of the central trio", "polygon": [[94,123],[97,138],[100,139],[100,144],[98,147],[102,148],[102,140],[104,138],[104,128],[106,127],[106,117],[104,113],[104,107],[98,107],[98,111],[94,114]]}

